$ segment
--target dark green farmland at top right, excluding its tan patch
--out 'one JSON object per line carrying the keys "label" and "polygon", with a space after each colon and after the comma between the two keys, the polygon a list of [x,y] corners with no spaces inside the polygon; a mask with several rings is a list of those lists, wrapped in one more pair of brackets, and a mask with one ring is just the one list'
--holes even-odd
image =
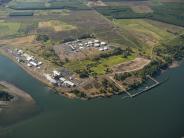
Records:
{"label": "dark green farmland at top right, excluding its tan patch", "polygon": [[132,7],[134,7],[133,4],[128,6],[120,5],[120,6],[100,7],[96,8],[96,10],[110,19],[148,18],[170,24],[184,26],[183,3],[180,2],[161,3],[160,1],[158,1],[156,4],[149,4],[146,6],[149,7],[153,12],[136,13],[131,9]]}

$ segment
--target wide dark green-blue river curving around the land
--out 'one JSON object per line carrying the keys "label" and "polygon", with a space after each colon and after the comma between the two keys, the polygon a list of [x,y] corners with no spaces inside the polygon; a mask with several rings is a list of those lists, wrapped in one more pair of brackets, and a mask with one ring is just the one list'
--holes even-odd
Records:
{"label": "wide dark green-blue river curving around the land", "polygon": [[169,81],[133,99],[70,100],[0,56],[0,79],[32,95],[40,109],[36,115],[1,127],[0,138],[181,138],[184,64],[157,79],[166,76]]}

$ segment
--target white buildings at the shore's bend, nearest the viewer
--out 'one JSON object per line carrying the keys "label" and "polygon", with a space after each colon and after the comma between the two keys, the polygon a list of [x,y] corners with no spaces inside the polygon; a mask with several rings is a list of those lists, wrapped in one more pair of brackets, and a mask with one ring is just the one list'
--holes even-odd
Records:
{"label": "white buildings at the shore's bend, nearest the viewer", "polygon": [[52,74],[44,74],[46,79],[57,86],[64,86],[64,87],[75,87],[75,84],[70,80],[62,77],[61,72],[54,70]]}

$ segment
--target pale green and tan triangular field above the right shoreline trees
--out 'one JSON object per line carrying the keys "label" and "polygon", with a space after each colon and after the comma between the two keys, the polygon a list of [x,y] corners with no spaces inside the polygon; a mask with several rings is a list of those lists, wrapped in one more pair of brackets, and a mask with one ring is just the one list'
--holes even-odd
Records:
{"label": "pale green and tan triangular field above the right shoreline trees", "polygon": [[143,19],[116,19],[114,24],[129,32],[142,45],[142,50],[151,55],[152,48],[175,37],[183,28]]}

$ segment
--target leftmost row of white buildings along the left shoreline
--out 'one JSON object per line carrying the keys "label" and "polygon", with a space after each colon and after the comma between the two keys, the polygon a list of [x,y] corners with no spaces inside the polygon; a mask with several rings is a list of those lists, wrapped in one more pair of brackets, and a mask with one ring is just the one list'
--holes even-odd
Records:
{"label": "leftmost row of white buildings along the left shoreline", "polygon": [[40,68],[43,64],[41,61],[38,61],[34,56],[31,56],[20,49],[15,49],[15,56],[18,62],[24,62],[28,67]]}

